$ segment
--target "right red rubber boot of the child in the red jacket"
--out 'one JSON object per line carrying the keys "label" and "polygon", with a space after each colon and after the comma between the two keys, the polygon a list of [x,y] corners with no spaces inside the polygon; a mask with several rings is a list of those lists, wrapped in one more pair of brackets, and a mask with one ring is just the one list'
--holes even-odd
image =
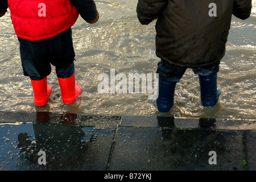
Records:
{"label": "right red rubber boot of the child in the red jacket", "polygon": [[82,93],[81,86],[76,83],[75,73],[68,78],[58,78],[61,90],[61,97],[64,104],[71,104],[77,100]]}

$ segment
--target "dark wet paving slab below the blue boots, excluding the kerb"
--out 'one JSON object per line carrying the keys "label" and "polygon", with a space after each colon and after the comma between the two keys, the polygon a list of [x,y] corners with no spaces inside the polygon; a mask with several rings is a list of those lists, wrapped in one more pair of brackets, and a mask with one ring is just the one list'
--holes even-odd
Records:
{"label": "dark wet paving slab below the blue boots, excluding the kerb", "polygon": [[121,127],[109,169],[242,170],[242,131]]}

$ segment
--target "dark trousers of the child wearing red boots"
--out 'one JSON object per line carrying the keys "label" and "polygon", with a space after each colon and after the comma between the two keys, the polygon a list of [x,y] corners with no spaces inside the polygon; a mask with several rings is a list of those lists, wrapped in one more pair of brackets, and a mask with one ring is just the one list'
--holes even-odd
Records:
{"label": "dark trousers of the child wearing red boots", "polygon": [[55,66],[59,78],[68,78],[75,72],[71,28],[49,39],[33,42],[21,38],[18,40],[24,76],[42,80],[51,73],[51,64]]}

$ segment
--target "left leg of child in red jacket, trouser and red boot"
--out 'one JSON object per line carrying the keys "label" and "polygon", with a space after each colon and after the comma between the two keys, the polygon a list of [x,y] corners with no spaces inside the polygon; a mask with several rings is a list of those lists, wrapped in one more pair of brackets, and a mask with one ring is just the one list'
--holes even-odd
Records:
{"label": "left leg of child in red jacket, trouser and red boot", "polygon": [[30,42],[19,38],[19,43],[23,73],[24,76],[30,77],[35,105],[47,105],[52,88],[51,85],[47,84],[47,76],[51,73],[51,65],[47,62],[45,42]]}

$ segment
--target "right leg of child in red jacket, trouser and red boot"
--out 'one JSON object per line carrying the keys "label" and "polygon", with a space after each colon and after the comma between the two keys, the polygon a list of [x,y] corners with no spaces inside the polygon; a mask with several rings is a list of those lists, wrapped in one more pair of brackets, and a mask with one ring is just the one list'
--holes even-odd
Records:
{"label": "right leg of child in red jacket, trouser and red boot", "polygon": [[49,39],[51,63],[56,67],[61,96],[64,104],[71,104],[80,96],[82,89],[75,79],[75,51],[72,31],[69,30]]}

